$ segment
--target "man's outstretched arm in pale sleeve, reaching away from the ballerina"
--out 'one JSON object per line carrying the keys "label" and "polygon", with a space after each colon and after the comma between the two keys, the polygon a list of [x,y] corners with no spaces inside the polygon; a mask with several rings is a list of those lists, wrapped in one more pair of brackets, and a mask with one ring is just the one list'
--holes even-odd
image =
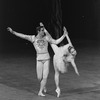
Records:
{"label": "man's outstretched arm in pale sleeve, reaching away from the ballerina", "polygon": [[18,36],[20,38],[26,39],[26,40],[28,40],[30,42],[32,42],[32,37],[35,37],[35,35],[25,35],[25,34],[22,34],[22,33],[15,32],[10,27],[8,27],[7,30],[9,32],[11,32],[12,34],[14,34],[14,35],[16,35],[16,36]]}

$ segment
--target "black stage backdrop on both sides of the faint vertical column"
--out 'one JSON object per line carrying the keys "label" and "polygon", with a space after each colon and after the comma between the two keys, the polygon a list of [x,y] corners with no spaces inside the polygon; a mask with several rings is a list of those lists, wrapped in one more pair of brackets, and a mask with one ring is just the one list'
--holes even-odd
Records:
{"label": "black stage backdrop on both sides of the faint vertical column", "polygon": [[[52,1],[54,0],[0,0],[0,52],[34,50],[31,43],[7,32],[11,27],[24,34],[36,34],[35,28],[43,22],[50,30]],[[66,26],[73,42],[100,39],[100,0],[61,0],[62,26]]]}

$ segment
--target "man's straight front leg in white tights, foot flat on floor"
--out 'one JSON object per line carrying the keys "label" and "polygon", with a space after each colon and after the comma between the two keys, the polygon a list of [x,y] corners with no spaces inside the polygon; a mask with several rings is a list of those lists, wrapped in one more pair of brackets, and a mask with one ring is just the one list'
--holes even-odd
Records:
{"label": "man's straight front leg in white tights, foot flat on floor", "polygon": [[45,96],[42,91],[45,89],[45,86],[46,86],[46,82],[47,82],[47,77],[48,77],[48,74],[49,74],[49,60],[46,60],[44,62],[44,65],[43,65],[43,77],[42,77],[42,80],[41,80],[41,86],[40,86],[40,91],[39,91],[39,94],[40,96]]}

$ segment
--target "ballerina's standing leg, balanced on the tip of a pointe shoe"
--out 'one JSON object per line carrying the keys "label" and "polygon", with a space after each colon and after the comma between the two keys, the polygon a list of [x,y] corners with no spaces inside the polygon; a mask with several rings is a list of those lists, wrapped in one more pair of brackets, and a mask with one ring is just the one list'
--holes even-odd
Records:
{"label": "ballerina's standing leg, balanced on the tip of a pointe shoe", "polygon": [[54,65],[54,70],[55,70],[55,76],[54,76],[54,79],[55,79],[55,84],[56,84],[56,92],[57,92],[57,97],[60,96],[60,87],[59,87],[59,70],[56,66],[56,59],[55,59],[55,55],[53,57],[53,65]]}

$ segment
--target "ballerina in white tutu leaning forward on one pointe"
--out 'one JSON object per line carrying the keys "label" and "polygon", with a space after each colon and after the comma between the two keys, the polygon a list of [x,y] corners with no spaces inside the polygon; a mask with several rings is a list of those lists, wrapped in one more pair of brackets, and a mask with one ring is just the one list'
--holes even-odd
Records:
{"label": "ballerina in white tutu leaning forward on one pointe", "polygon": [[60,96],[59,72],[65,73],[67,69],[66,67],[68,66],[69,62],[74,67],[76,74],[79,75],[78,69],[75,64],[75,56],[77,54],[76,50],[74,49],[70,41],[70,38],[68,37],[68,32],[66,28],[64,27],[63,30],[68,40],[68,44],[61,47],[58,47],[55,44],[51,44],[51,47],[55,53],[53,57],[53,64],[55,69],[55,84],[56,84],[57,97]]}

